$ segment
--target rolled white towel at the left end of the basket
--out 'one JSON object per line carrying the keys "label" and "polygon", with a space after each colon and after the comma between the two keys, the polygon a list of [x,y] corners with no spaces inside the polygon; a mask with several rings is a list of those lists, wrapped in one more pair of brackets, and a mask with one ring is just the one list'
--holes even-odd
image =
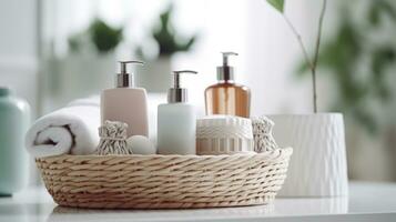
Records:
{"label": "rolled white towel at the left end of the basket", "polygon": [[99,98],[81,99],[34,122],[26,145],[34,158],[59,154],[90,154],[99,143]]}

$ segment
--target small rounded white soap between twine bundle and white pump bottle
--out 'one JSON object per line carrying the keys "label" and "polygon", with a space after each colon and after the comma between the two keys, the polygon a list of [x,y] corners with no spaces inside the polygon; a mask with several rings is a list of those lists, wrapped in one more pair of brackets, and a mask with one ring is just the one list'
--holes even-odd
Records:
{"label": "small rounded white soap between twine bundle and white pump bottle", "polygon": [[132,135],[126,140],[128,148],[132,150],[133,154],[155,154],[156,148],[143,135]]}

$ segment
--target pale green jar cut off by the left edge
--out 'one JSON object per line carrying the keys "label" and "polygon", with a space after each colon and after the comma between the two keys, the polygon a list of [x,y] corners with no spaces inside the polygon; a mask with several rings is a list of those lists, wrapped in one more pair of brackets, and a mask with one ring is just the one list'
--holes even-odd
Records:
{"label": "pale green jar cut off by the left edge", "polygon": [[30,124],[29,104],[0,87],[0,195],[11,195],[28,183],[29,158],[24,134]]}

